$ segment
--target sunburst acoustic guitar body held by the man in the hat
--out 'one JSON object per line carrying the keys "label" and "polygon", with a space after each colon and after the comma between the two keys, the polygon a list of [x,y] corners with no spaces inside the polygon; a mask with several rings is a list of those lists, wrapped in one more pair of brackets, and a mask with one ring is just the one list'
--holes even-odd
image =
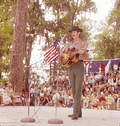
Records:
{"label": "sunburst acoustic guitar body held by the man in the hat", "polygon": [[78,61],[78,56],[79,54],[75,53],[74,48],[72,50],[68,49],[67,51],[64,52],[64,56],[61,57],[61,63],[66,68],[69,68],[73,62]]}

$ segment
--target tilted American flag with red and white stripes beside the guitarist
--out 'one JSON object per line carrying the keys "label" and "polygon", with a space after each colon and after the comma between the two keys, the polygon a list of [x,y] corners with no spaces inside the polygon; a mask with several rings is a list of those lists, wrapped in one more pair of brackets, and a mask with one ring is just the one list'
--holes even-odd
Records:
{"label": "tilted American flag with red and white stripes beside the guitarist", "polygon": [[58,37],[56,41],[49,47],[47,52],[44,54],[44,57],[49,64],[51,64],[53,61],[55,61],[58,58],[59,52],[57,46],[59,45],[60,40],[61,38]]}

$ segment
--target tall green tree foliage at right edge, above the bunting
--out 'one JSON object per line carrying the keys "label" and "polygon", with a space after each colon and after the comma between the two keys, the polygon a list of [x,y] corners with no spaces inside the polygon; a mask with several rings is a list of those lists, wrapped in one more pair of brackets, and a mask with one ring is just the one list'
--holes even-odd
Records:
{"label": "tall green tree foliage at right edge, above the bunting", "polygon": [[120,58],[120,1],[109,13],[107,25],[101,28],[102,33],[95,36],[95,59]]}

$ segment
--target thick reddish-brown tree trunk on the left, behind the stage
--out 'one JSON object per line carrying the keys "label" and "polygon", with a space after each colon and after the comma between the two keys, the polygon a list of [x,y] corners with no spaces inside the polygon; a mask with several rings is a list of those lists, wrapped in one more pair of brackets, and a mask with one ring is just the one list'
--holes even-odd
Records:
{"label": "thick reddish-brown tree trunk on the left, behind the stage", "polygon": [[10,56],[9,82],[15,92],[21,92],[23,84],[23,59],[25,54],[28,0],[18,0],[15,15],[15,29]]}

